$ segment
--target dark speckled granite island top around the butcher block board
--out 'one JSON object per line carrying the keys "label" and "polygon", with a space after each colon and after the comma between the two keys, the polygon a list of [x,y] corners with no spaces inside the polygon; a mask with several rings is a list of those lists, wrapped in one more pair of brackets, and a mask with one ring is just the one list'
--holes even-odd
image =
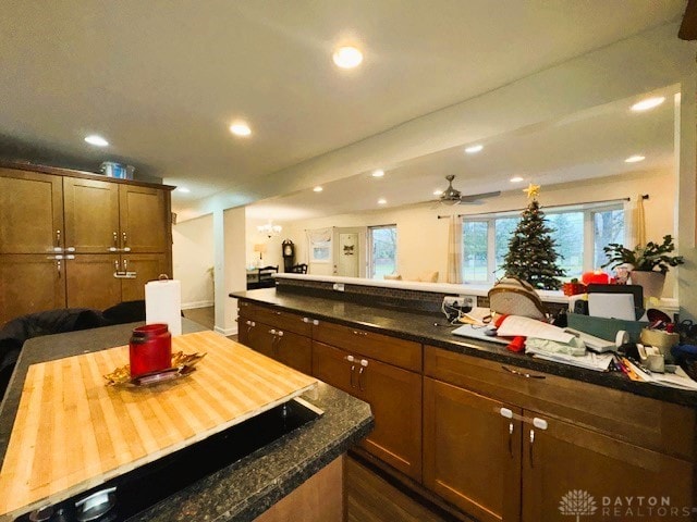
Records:
{"label": "dark speckled granite island top around the butcher block board", "polygon": [[[0,407],[0,465],[28,366],[37,362],[125,345],[132,330],[140,324],[143,323],[37,337],[24,345]],[[205,330],[186,319],[182,320],[182,326],[183,333]],[[316,394],[307,394],[303,398],[322,409],[323,415],[193,483],[130,520],[252,521],[344,453],[372,428],[370,407],[332,386],[320,383]]]}

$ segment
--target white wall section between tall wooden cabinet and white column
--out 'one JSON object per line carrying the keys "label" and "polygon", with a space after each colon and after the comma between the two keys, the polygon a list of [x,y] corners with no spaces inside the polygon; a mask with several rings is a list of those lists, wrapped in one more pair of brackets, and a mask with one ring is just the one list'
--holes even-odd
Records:
{"label": "white wall section between tall wooden cabinet and white column", "polygon": [[182,283],[182,308],[210,307],[213,303],[212,214],[172,226],[174,278]]}

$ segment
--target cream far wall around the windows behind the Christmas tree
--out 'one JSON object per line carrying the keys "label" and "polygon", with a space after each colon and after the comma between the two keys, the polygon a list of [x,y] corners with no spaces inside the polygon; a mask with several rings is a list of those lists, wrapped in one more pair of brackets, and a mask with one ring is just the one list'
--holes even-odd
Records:
{"label": "cream far wall around the windows behind the Christmas tree", "polygon": [[[526,196],[518,189],[503,192],[481,206],[436,207],[431,203],[401,207],[393,210],[341,214],[315,220],[288,223],[283,237],[296,244],[298,262],[308,262],[308,245],[305,229],[327,226],[374,226],[396,224],[398,227],[398,272],[405,278],[423,272],[439,272],[439,281],[444,282],[447,273],[448,220],[438,215],[478,214],[494,211],[522,210]],[[649,240],[660,240],[665,234],[676,235],[674,213],[676,182],[672,172],[643,172],[622,176],[611,176],[586,182],[542,187],[539,201],[542,208],[608,199],[632,198],[648,194],[645,201],[646,233]],[[331,264],[310,264],[309,272],[330,275]],[[673,294],[674,279],[665,285],[665,296]]]}

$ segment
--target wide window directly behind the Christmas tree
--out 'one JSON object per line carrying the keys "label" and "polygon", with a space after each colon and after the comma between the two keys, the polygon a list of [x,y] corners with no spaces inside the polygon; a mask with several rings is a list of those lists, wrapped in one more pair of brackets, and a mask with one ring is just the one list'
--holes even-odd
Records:
{"label": "wide window directly behind the Christmas tree", "polygon": [[[602,247],[624,241],[622,203],[580,204],[573,208],[542,209],[551,236],[557,241],[559,265],[564,281],[604,264]],[[501,277],[509,239],[519,213],[502,212],[463,219],[463,266],[465,283],[493,283]]]}

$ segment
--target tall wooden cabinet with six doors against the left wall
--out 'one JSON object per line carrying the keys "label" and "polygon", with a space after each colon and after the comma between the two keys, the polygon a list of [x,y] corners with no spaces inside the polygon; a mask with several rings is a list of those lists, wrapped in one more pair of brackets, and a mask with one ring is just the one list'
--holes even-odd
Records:
{"label": "tall wooden cabinet with six doors against the left wall", "polygon": [[[38,165],[0,166],[0,322],[145,299],[148,281],[172,276],[172,188]],[[35,257],[12,257],[19,254]]]}

